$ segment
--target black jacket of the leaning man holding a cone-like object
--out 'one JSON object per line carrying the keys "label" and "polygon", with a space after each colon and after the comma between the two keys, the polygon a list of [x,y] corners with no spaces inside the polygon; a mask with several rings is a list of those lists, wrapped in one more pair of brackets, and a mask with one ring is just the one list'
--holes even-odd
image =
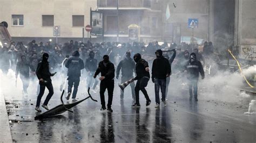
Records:
{"label": "black jacket of the leaning man holding a cone-like object", "polygon": [[139,61],[136,63],[136,74],[137,76],[134,78],[134,80],[138,80],[144,76],[150,78],[150,74],[148,71],[146,71],[146,67],[149,67],[149,63],[145,61],[144,59],[139,59]]}

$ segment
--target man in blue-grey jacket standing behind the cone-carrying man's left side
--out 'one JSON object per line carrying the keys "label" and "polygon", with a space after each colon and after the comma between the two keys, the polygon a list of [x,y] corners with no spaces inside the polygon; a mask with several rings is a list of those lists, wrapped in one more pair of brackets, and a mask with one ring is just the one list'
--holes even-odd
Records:
{"label": "man in blue-grey jacket standing behind the cone-carrying man's left side", "polygon": [[[130,52],[125,53],[125,58],[122,61],[120,61],[117,66],[117,76],[116,76],[117,79],[119,78],[119,73],[121,69],[122,69],[121,83],[124,83],[133,78],[133,73],[135,71],[135,62],[132,60]],[[131,82],[130,86],[132,90],[132,99],[133,101],[135,101],[134,82]],[[120,90],[120,92],[121,92],[120,99],[123,99],[124,91]]]}

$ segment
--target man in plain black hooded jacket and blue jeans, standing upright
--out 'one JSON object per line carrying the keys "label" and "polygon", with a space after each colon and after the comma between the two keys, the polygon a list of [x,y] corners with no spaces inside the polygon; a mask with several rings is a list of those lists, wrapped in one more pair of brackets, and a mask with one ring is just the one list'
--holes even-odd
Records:
{"label": "man in plain black hooded jacket and blue jeans, standing upright", "polygon": [[160,105],[159,88],[161,88],[162,98],[161,101],[165,102],[166,91],[166,77],[171,74],[171,66],[169,60],[164,58],[161,49],[156,51],[157,59],[154,59],[152,66],[152,82],[154,83],[154,92],[156,95],[156,108]]}

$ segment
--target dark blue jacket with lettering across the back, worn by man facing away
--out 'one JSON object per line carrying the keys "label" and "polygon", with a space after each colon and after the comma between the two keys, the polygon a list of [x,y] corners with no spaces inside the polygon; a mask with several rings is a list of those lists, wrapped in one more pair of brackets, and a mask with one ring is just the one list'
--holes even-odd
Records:
{"label": "dark blue jacket with lettering across the back, worn by man facing away", "polygon": [[72,56],[66,61],[65,67],[68,68],[68,76],[80,77],[84,62],[78,56]]}

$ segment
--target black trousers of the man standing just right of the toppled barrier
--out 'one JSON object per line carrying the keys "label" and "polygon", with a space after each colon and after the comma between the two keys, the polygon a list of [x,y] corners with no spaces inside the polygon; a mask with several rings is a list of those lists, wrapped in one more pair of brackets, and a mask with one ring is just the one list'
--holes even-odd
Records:
{"label": "black trousers of the man standing just right of the toppled barrier", "polygon": [[107,102],[107,108],[111,108],[112,100],[113,100],[113,91],[114,91],[114,80],[100,81],[100,102],[102,106],[105,106],[105,96],[104,93],[107,89],[107,94],[109,95],[109,100]]}

